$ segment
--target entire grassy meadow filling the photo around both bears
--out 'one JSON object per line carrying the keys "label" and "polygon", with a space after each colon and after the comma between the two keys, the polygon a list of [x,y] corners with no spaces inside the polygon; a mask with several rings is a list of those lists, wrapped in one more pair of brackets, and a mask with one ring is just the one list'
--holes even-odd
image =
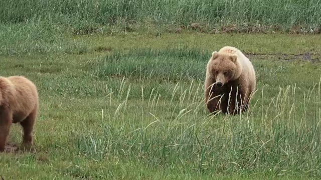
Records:
{"label": "entire grassy meadow filling the photo around both bears", "polygon": [[[321,0],[0,1],[1,75],[39,89],[34,149],[3,179],[318,179]],[[231,45],[257,91],[210,115],[206,63]],[[10,145],[21,141],[11,128]]]}

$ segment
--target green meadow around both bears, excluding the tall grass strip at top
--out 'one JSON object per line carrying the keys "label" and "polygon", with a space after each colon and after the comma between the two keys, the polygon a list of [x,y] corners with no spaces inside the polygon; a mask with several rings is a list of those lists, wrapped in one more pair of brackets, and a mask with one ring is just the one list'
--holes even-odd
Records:
{"label": "green meadow around both bears, excluding the tall grass strip at top", "polygon": [[[35,40],[28,33],[16,34]],[[56,35],[38,39],[49,43],[40,52],[1,47],[15,51],[2,51],[1,75],[29,77],[41,101],[35,149],[2,153],[5,179],[320,177],[319,36]],[[241,115],[204,105],[206,63],[224,45],[247,53],[257,73]],[[20,142],[19,125],[9,140]]]}

